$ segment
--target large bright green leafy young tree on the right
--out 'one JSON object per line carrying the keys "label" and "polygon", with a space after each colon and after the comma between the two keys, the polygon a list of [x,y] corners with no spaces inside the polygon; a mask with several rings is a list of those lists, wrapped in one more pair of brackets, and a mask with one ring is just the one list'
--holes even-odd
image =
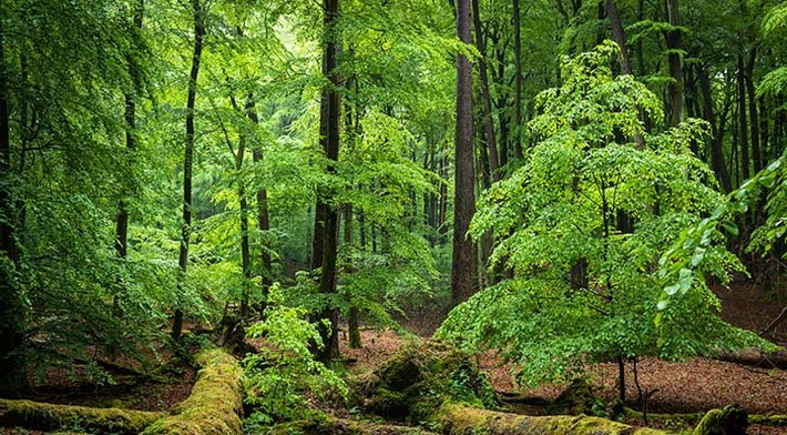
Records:
{"label": "large bright green leafy young tree on the right", "polygon": [[[612,77],[614,54],[607,42],[566,59],[563,84],[539,95],[530,123],[539,143],[481,198],[471,225],[476,237],[493,231],[492,260],[513,279],[454,308],[438,331],[468,350],[504,350],[522,364],[523,384],[570,378],[586,361],[762,343],[722,322],[716,296],[692,273],[668,289],[688,296],[654,324],[664,313],[656,260],[722,196],[689,151],[704,123],[645,133],[640,112],[658,114],[658,102],[631,77]],[[625,141],[636,134],[643,148]],[[740,269],[722,245],[693,254],[708,275]]]}

